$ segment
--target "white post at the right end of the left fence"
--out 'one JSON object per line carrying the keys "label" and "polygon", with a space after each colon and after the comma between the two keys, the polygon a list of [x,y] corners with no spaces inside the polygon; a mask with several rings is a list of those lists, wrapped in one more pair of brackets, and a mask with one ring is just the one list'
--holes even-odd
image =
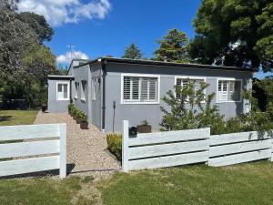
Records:
{"label": "white post at the right end of the left fence", "polygon": [[60,178],[66,178],[66,124],[60,124]]}

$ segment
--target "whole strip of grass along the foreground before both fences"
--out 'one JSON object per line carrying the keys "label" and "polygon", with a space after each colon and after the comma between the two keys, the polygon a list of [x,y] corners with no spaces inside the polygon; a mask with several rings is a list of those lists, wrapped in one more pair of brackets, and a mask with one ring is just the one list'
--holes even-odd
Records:
{"label": "whole strip of grass along the foreground before both fences", "polygon": [[273,163],[226,168],[205,165],[116,173],[64,180],[0,179],[0,205],[269,205]]}

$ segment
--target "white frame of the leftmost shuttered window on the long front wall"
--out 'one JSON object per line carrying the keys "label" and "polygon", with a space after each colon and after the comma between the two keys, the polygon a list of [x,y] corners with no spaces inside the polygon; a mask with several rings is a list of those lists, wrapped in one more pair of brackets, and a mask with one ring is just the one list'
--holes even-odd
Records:
{"label": "white frame of the leftmost shuttered window on the long front wall", "polygon": [[[154,77],[157,78],[157,101],[125,101],[124,100],[124,77]],[[140,88],[140,87],[139,87]],[[120,97],[120,104],[159,104],[160,101],[160,76],[158,75],[150,75],[150,74],[121,74],[121,97]],[[140,97],[140,96],[139,96]]]}

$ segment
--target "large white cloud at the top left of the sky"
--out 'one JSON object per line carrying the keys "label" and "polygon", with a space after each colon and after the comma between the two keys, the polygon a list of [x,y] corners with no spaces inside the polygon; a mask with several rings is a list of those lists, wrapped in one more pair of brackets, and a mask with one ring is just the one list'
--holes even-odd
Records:
{"label": "large white cloud at the top left of the sky", "polygon": [[87,4],[81,0],[20,0],[18,4],[19,12],[44,15],[51,26],[78,23],[83,19],[104,19],[110,9],[109,0],[92,0]]}

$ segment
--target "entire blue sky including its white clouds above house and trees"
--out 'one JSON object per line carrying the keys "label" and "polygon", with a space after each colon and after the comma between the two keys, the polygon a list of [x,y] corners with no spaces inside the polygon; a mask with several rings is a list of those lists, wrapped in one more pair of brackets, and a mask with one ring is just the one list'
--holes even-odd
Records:
{"label": "entire blue sky including its white clouds above house and trees", "polygon": [[[44,15],[55,29],[46,43],[58,63],[70,61],[68,45],[75,57],[123,55],[135,43],[144,56],[153,56],[160,39],[171,28],[192,38],[193,19],[201,0],[21,0],[19,11]],[[258,77],[264,77],[262,73]]]}

